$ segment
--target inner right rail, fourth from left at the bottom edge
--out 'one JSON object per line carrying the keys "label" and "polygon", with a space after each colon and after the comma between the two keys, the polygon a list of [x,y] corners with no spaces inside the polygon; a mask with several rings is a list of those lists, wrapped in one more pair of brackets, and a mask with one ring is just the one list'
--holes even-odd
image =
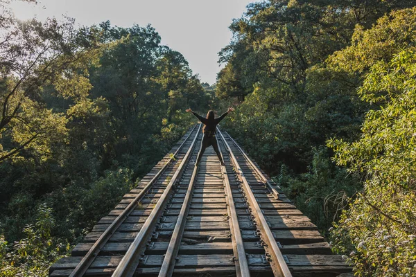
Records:
{"label": "inner right rail, fourth from left at the bottom edge", "polygon": [[[221,157],[223,158],[223,153],[221,152],[220,143],[218,143],[218,150],[220,151]],[[229,229],[231,229],[232,234],[232,244],[234,251],[234,262],[236,262],[236,276],[238,277],[248,277],[250,276],[250,269],[248,268],[247,257],[245,256],[245,249],[243,243],[243,236],[241,235],[239,217],[236,212],[236,206],[234,204],[234,197],[232,196],[231,186],[229,184],[229,178],[227,174],[227,169],[225,166],[221,166],[221,171],[223,172],[224,182],[225,182],[225,195],[227,196],[227,208],[229,214]]]}

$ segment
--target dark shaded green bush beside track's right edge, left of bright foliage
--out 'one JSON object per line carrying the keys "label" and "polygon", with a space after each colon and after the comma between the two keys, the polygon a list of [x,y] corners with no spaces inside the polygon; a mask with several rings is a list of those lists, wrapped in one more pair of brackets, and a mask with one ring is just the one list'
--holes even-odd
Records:
{"label": "dark shaded green bush beside track's right edge, left of bright foliage", "polygon": [[327,235],[333,222],[338,221],[349,197],[361,188],[359,179],[347,176],[344,168],[336,167],[324,147],[313,148],[309,172],[293,175],[287,166],[281,166],[276,183],[289,199]]}

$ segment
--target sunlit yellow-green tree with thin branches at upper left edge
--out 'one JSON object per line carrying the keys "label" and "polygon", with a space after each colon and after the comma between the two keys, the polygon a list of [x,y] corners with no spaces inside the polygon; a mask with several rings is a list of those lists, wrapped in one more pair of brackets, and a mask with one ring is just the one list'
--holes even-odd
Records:
{"label": "sunlit yellow-green tree with thin branches at upper left edge", "polygon": [[87,97],[86,69],[98,54],[96,31],[75,30],[72,19],[19,21],[9,12],[0,15],[0,163],[24,149],[45,159],[53,141],[67,136],[70,115],[47,109],[42,91],[55,87],[72,105]]}

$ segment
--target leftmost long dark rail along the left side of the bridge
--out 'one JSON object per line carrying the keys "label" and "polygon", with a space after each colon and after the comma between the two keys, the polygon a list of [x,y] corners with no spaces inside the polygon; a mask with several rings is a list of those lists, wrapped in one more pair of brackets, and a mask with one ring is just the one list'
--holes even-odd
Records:
{"label": "leftmost long dark rail along the left side of the bridge", "polygon": [[[187,138],[181,143],[179,148],[177,148],[173,156],[170,159],[168,159],[165,165],[157,172],[155,177],[153,177],[148,182],[148,184],[143,188],[143,190],[141,190],[139,195],[137,195],[135,199],[133,199],[132,202],[130,202],[130,204],[128,204],[128,206],[123,210],[123,212],[121,212],[121,214],[118,217],[116,217],[116,219],[112,222],[112,224],[110,224],[110,226],[108,226],[107,229],[105,229],[105,231],[100,235],[98,240],[96,240],[96,242],[92,245],[91,249],[89,249],[89,251],[85,254],[83,259],[78,263],[76,268],[73,269],[69,277],[78,277],[78,276],[83,276],[85,274],[89,266],[92,264],[92,262],[94,262],[94,259],[96,258],[96,256],[98,256],[98,253],[100,253],[104,245],[108,242],[108,240],[110,240],[111,236],[116,231],[116,229],[119,228],[119,226],[124,222],[124,220],[128,217],[128,215],[130,215],[130,213],[135,209],[136,202],[139,201],[139,199],[141,199],[142,197],[144,197],[144,195],[148,192],[149,188],[153,186],[153,183],[155,183],[155,181],[159,178],[159,176],[162,175],[162,172],[164,172],[164,170],[166,170],[166,168],[171,163],[171,161],[173,161],[177,153],[179,153],[183,145],[187,142],[187,140],[193,133],[193,130],[196,128],[196,126],[197,125],[193,127],[191,132],[189,132],[189,135],[187,136]],[[198,133],[199,133],[199,129],[198,129],[196,136],[198,136]]]}

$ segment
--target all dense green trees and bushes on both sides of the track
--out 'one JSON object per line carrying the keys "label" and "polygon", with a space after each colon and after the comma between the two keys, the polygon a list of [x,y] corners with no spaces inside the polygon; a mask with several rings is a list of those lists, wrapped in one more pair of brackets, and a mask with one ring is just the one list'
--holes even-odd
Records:
{"label": "all dense green trees and bushes on both sides of the track", "polygon": [[151,26],[19,21],[8,4],[0,276],[45,276],[194,122],[184,109],[230,103],[223,127],[357,276],[416,276],[416,1],[252,3],[211,86]]}

